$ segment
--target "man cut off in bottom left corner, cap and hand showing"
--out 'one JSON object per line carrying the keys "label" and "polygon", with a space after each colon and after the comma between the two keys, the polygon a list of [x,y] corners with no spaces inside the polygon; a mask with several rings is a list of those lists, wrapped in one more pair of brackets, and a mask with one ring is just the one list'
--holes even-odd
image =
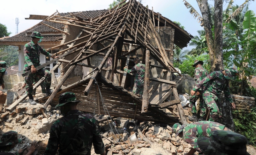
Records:
{"label": "man cut off in bottom left corner, cap and hand showing", "polygon": [[[16,131],[8,131],[4,133],[0,139],[0,155],[19,155],[26,150],[26,147],[20,149],[18,152],[11,151],[15,145],[21,142],[21,139],[18,139],[18,133]],[[37,148],[36,142],[33,141],[30,148],[28,148],[28,153],[26,155],[32,155]]]}

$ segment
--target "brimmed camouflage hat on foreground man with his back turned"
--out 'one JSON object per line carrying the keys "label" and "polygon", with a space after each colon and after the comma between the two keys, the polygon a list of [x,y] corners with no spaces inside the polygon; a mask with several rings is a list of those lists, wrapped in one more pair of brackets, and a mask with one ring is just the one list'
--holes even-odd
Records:
{"label": "brimmed camouflage hat on foreground man with his back turned", "polygon": [[63,93],[63,94],[60,95],[59,104],[56,105],[55,108],[61,107],[61,106],[66,105],[66,104],[74,104],[74,103],[79,103],[79,102],[81,102],[81,101],[76,100],[76,97],[75,97],[74,93],[66,92],[66,93]]}

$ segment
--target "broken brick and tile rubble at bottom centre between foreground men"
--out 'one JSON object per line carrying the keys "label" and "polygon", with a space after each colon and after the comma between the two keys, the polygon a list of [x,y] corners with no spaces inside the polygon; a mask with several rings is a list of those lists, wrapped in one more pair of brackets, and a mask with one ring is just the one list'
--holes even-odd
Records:
{"label": "broken brick and tile rubble at bottom centre between foreground men", "polygon": [[[100,126],[107,155],[183,155],[191,148],[191,145],[178,136],[175,138],[172,127],[164,124],[147,121],[137,123],[118,117],[113,119],[113,123],[105,121]],[[134,135],[137,140],[131,142]],[[91,154],[96,155],[93,149]]]}

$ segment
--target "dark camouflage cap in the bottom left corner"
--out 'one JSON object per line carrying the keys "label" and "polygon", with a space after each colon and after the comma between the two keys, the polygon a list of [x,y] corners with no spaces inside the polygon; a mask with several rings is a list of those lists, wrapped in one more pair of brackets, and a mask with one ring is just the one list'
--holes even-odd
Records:
{"label": "dark camouflage cap in the bottom left corner", "polygon": [[14,145],[20,143],[18,133],[16,131],[8,131],[4,133],[0,139],[0,146]]}

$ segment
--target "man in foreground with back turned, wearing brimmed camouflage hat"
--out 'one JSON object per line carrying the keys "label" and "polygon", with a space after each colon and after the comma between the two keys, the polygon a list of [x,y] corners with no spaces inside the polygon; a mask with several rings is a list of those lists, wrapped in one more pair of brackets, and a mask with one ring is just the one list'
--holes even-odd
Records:
{"label": "man in foreground with back turned, wearing brimmed camouflage hat", "polygon": [[105,147],[99,133],[98,121],[91,114],[76,109],[75,94],[60,95],[59,104],[64,116],[53,123],[44,155],[90,155],[92,144],[96,154],[105,155]]}

